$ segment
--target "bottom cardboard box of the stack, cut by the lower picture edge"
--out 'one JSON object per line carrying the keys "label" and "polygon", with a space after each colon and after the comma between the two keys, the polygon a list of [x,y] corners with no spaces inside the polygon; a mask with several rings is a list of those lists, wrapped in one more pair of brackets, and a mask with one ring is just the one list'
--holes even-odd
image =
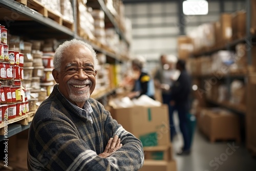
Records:
{"label": "bottom cardboard box of the stack, cut by the lower picture edge", "polygon": [[158,161],[158,160],[145,160],[143,166],[139,171],[176,171],[177,165],[175,160],[171,161]]}

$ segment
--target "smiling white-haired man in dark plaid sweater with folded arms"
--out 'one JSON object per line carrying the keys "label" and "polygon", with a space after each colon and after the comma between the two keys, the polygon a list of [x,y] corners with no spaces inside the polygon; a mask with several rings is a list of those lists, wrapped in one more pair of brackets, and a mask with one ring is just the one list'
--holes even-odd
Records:
{"label": "smiling white-haired man in dark plaid sweater with folded arms", "polygon": [[56,85],[41,103],[29,130],[29,170],[139,170],[140,140],[90,98],[96,53],[84,41],[65,41],[55,52]]}

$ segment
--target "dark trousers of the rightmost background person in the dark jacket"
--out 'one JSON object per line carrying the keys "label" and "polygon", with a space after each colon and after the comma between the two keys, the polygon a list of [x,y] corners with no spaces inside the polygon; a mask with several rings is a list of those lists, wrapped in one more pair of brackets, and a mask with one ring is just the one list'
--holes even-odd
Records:
{"label": "dark trousers of the rightmost background person in the dark jacket", "polygon": [[[178,117],[179,117],[179,127],[180,127],[180,131],[181,131],[181,134],[182,134],[182,137],[183,137],[183,143],[184,143],[184,146],[183,146],[183,150],[186,151],[188,149],[190,149],[190,138],[189,138],[189,127],[188,127],[188,123],[187,123],[187,108],[186,106],[183,106],[183,105],[174,105],[174,106],[171,106],[171,111],[169,115],[169,117],[173,117],[173,113],[174,111],[177,111],[178,112]],[[170,119],[170,120],[173,120]],[[170,137],[171,137],[171,140],[173,138],[174,134],[173,131],[172,131],[172,127],[170,128]]]}

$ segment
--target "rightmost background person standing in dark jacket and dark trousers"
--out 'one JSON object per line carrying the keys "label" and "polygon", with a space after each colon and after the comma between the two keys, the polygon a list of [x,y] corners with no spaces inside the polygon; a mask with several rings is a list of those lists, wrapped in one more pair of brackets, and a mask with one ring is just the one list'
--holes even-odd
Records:
{"label": "rightmost background person standing in dark jacket and dark trousers", "polygon": [[[185,61],[179,59],[176,63],[176,69],[180,71],[180,76],[174,82],[171,88],[170,105],[174,112],[178,112],[179,127],[183,137],[184,146],[178,155],[187,155],[190,153],[190,139],[188,133],[188,123],[186,115],[189,112],[189,95],[191,90],[191,79],[185,68]],[[171,128],[172,129],[172,128]]]}

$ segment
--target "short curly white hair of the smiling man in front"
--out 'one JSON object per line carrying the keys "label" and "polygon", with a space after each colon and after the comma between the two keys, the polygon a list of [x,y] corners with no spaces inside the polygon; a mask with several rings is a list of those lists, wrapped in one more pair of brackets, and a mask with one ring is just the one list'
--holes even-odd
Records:
{"label": "short curly white hair of the smiling man in front", "polygon": [[98,59],[97,59],[97,54],[96,54],[95,50],[93,49],[93,47],[83,40],[72,39],[72,40],[67,40],[67,41],[63,42],[55,51],[54,58],[53,58],[53,67],[58,72],[60,72],[63,52],[70,46],[75,46],[75,45],[83,45],[91,51],[91,53],[93,55],[94,68],[95,69],[97,68]]}

